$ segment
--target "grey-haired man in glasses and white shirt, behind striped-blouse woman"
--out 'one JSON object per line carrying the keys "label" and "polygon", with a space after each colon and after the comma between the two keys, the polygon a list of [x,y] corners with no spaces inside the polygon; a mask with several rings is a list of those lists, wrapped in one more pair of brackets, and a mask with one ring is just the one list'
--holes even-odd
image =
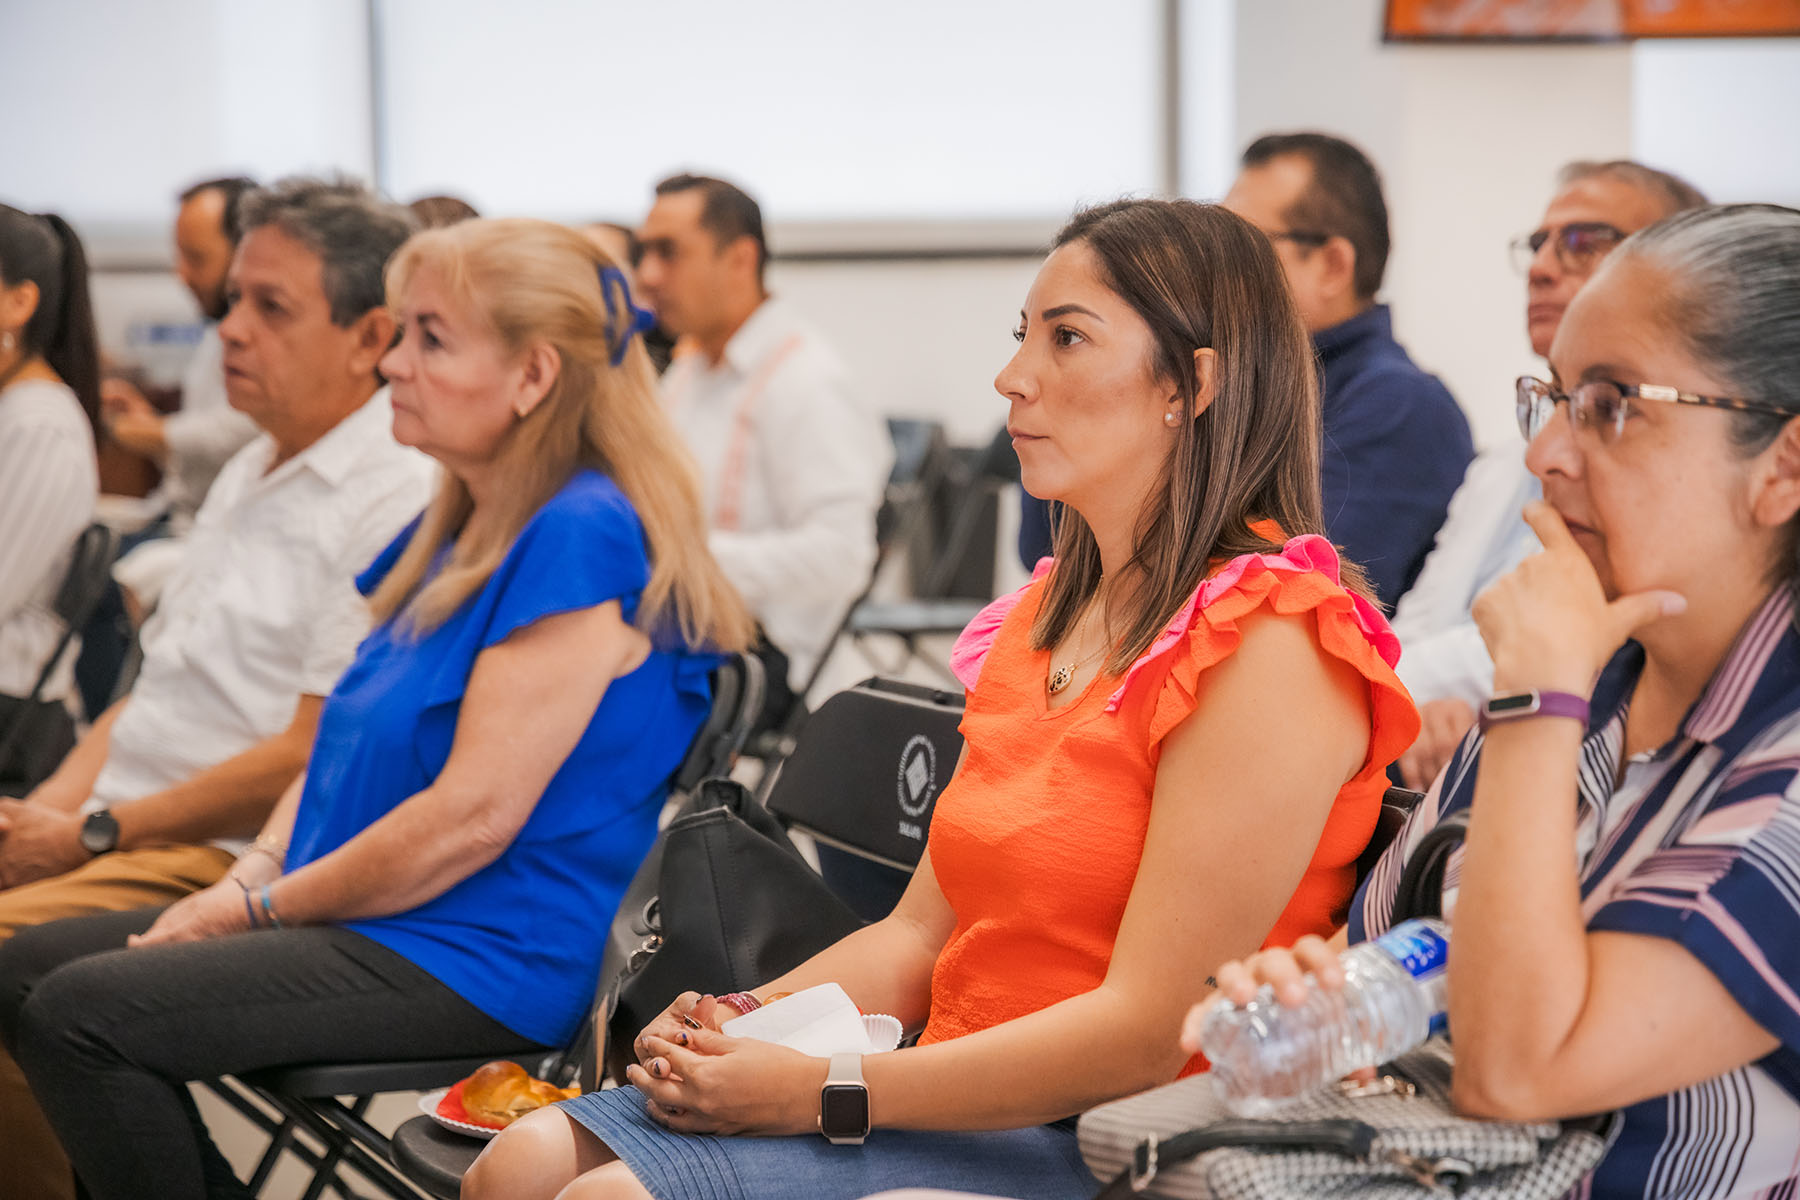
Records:
{"label": "grey-haired man in glasses and white shirt, behind striped-blouse woman", "polygon": [[[1512,241],[1514,263],[1526,279],[1525,327],[1532,353],[1550,354],[1570,300],[1618,243],[1665,216],[1705,203],[1706,196],[1692,184],[1636,162],[1562,167],[1543,221]],[[1559,399],[1539,396],[1541,390],[1519,381],[1521,428],[1534,428],[1530,421],[1541,419]],[[1600,434],[1611,432],[1602,426],[1622,416],[1622,396],[1586,385],[1579,390],[1573,419]],[[1537,538],[1519,513],[1539,495],[1537,479],[1525,470],[1523,441],[1476,459],[1451,500],[1431,558],[1393,615],[1402,646],[1400,680],[1418,702],[1422,723],[1418,741],[1399,763],[1409,788],[1431,784],[1474,725],[1476,707],[1492,693],[1494,664],[1469,608],[1489,583],[1537,551]]]}

